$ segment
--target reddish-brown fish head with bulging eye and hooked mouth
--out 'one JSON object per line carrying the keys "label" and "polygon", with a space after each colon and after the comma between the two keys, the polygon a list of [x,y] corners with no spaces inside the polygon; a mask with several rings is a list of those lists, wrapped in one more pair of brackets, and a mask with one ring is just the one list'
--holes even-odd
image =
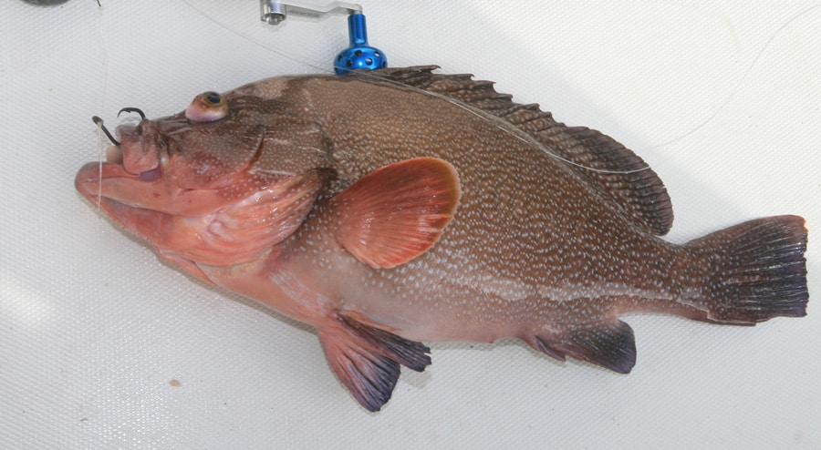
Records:
{"label": "reddish-brown fish head with bulging eye and hooked mouth", "polygon": [[172,261],[253,260],[300,226],[331,162],[316,124],[256,92],[206,92],[174,116],[120,125],[77,189]]}

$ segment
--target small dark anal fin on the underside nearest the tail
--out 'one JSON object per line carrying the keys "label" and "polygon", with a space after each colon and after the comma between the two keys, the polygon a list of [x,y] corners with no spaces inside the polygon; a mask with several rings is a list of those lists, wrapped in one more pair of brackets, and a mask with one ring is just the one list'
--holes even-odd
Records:
{"label": "small dark anal fin on the underside nearest the tail", "polygon": [[618,373],[629,373],[636,364],[633,329],[618,320],[576,326],[556,335],[536,336],[535,348],[560,361],[567,355]]}

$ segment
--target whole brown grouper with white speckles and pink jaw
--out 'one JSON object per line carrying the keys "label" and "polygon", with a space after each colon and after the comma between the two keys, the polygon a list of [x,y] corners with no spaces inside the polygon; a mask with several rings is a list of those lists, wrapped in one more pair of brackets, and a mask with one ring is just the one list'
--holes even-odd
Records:
{"label": "whole brown grouper with white speckles and pink jaw", "polygon": [[165,261],[312,326],[365,409],[426,343],[518,338],[629,373],[629,312],[806,314],[805,220],[684,243],[648,164],[437,66],[273,77],[116,128],[76,188]]}

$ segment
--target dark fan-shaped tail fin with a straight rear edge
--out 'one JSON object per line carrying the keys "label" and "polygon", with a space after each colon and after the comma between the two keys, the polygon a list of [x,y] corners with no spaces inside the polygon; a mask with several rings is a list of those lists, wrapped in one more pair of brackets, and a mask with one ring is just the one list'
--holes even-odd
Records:
{"label": "dark fan-shaped tail fin with a straight rear edge", "polygon": [[707,310],[704,320],[754,324],[805,316],[804,224],[798,216],[768,217],[688,242],[707,266],[707,291],[698,301]]}

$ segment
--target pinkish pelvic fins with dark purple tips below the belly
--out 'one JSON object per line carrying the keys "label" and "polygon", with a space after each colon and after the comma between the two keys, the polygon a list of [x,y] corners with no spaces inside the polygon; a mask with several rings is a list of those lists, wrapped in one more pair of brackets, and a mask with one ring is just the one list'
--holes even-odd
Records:
{"label": "pinkish pelvic fins with dark purple tips below the belly", "polygon": [[370,412],[390,400],[400,364],[422,372],[431,363],[431,349],[339,312],[319,332],[327,362],[350,394]]}

